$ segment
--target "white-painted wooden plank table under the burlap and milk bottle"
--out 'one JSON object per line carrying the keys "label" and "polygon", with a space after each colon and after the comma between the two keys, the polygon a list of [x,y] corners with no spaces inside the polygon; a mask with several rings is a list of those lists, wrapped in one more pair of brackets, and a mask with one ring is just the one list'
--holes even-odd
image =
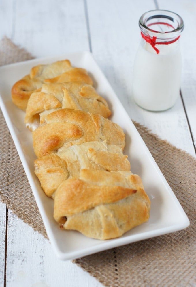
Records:
{"label": "white-painted wooden plank table under the burlap and milk bottle", "polygon": [[[181,96],[165,112],[148,112],[131,95],[138,20],[155,8],[185,22],[181,37]],[[7,36],[35,57],[91,51],[131,119],[195,157],[195,0],[1,0],[0,38]],[[55,258],[48,240],[0,203],[0,287],[102,286],[71,261]]]}

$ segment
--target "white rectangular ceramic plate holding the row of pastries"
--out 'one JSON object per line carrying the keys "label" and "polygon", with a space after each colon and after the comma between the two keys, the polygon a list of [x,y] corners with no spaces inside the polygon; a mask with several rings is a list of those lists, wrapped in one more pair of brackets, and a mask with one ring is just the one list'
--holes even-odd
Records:
{"label": "white rectangular ceramic plate holding the row of pastries", "polygon": [[[69,59],[73,66],[85,68],[95,80],[94,86],[97,92],[108,101],[112,110],[110,119],[118,123],[125,132],[124,154],[128,155],[131,162],[131,171],[142,177],[144,188],[151,201],[149,221],[126,232],[120,238],[100,241],[87,238],[76,231],[60,230],[53,219],[53,200],[44,194],[34,173],[36,157],[33,151],[32,135],[24,124],[25,113],[12,103],[11,88],[16,81],[29,74],[33,66],[63,59]],[[181,230],[189,225],[189,219],[184,210],[91,53],[71,53],[60,57],[35,59],[0,67],[0,95],[3,115],[27,174],[51,245],[60,259],[79,258]]]}

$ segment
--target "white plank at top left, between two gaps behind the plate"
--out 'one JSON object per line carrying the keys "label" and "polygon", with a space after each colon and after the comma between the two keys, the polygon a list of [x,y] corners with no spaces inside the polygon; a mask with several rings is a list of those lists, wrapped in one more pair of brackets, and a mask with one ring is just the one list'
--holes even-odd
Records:
{"label": "white plank at top left, between two gaps behind the plate", "polygon": [[82,0],[16,2],[13,27],[12,40],[36,57],[89,49]]}

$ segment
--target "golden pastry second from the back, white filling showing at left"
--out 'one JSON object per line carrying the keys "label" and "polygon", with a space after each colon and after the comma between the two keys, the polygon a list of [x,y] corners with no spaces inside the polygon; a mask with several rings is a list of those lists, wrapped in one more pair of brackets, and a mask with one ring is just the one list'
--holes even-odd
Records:
{"label": "golden pastry second from the back, white filling showing at left", "polygon": [[71,108],[97,113],[108,118],[111,114],[108,104],[93,86],[84,82],[43,84],[40,92],[31,94],[27,103],[25,123],[31,130],[42,124],[42,114],[49,114],[59,108]]}

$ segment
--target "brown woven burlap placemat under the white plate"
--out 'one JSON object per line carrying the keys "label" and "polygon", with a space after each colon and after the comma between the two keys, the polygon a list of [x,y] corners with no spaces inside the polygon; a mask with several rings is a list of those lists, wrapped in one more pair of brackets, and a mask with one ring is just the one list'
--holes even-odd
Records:
{"label": "brown woven burlap placemat under the white plate", "polygon": [[[30,58],[32,56],[27,51],[15,46],[9,39],[1,40],[1,65]],[[188,215],[190,226],[179,232],[99,252],[73,262],[108,287],[195,287],[196,160],[139,123],[134,124]],[[0,156],[1,201],[24,222],[47,237],[1,112]]]}

